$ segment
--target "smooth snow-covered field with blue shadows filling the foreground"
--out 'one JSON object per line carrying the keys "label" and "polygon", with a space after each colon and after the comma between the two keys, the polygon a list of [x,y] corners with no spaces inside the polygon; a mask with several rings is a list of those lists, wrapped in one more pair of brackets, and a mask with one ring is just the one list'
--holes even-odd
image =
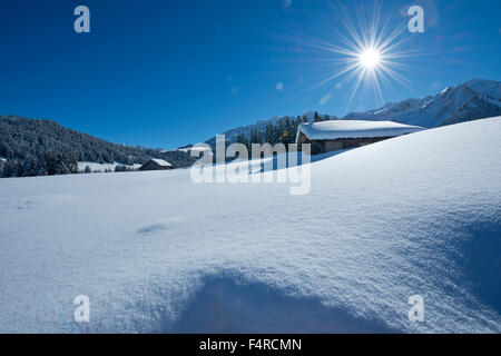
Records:
{"label": "smooth snow-covered field with blue shadows filling the foreground", "polygon": [[500,137],[493,118],[357,148],[313,162],[305,196],[188,169],[2,179],[0,332],[500,333]]}

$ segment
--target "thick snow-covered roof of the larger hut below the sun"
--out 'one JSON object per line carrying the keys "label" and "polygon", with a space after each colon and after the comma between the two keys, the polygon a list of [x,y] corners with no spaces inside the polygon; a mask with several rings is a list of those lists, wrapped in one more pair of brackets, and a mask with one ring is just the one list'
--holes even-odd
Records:
{"label": "thick snow-covered roof of the larger hut below the sun", "polygon": [[394,137],[424,130],[420,126],[410,126],[393,121],[330,120],[302,123],[297,135],[303,132],[308,139],[335,140],[341,138]]}

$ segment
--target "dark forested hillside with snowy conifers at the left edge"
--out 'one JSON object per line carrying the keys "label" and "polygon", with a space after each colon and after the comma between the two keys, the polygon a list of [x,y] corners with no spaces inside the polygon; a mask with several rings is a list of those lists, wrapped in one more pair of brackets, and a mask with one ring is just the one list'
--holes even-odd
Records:
{"label": "dark forested hillside with snowy conifers at the left edge", "polygon": [[0,116],[1,177],[31,177],[78,172],[78,162],[143,165],[160,158],[174,167],[193,165],[184,151],[164,151],[108,142],[42,119]]}

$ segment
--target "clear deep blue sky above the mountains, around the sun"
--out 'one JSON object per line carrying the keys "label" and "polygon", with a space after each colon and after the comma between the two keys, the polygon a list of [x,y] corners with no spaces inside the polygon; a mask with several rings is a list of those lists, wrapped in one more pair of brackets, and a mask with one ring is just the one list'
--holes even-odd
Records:
{"label": "clear deep blue sky above the mountains, around the sun", "polygon": [[[501,2],[406,0],[4,0],[0,113],[49,118],[115,142],[176,148],[273,116],[342,116],[436,93],[472,78],[501,80]],[[90,9],[90,33],[73,9]],[[402,31],[381,96],[341,76],[346,23]],[[360,26],[358,26],[360,24]],[[376,30],[377,32],[379,30]],[[381,31],[380,31],[381,32]],[[314,44],[314,46],[312,46]],[[281,85],[278,85],[281,83]],[[278,85],[278,86],[277,86]],[[282,90],[278,90],[278,89]]]}

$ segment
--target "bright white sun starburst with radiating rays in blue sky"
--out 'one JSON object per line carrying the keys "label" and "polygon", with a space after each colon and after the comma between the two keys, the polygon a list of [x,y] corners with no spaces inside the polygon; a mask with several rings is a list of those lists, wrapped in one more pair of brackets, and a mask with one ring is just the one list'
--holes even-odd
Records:
{"label": "bright white sun starburst with radiating rays in blue sky", "polygon": [[412,91],[411,82],[403,75],[403,71],[410,69],[404,59],[418,56],[419,51],[405,46],[411,40],[411,36],[404,36],[406,22],[400,21],[395,24],[394,18],[390,14],[382,22],[382,8],[377,6],[369,11],[369,17],[357,12],[357,26],[343,7],[335,9],[335,12],[340,14],[343,26],[332,33],[334,39],[323,40],[304,34],[298,34],[295,39],[301,41],[301,44],[332,55],[331,59],[324,58],[322,61],[328,65],[331,72],[324,75],[324,78],[311,86],[307,91],[334,80],[337,88],[351,85],[346,110],[361,87],[363,89],[371,87],[381,105],[384,103],[383,86],[399,83]]}

